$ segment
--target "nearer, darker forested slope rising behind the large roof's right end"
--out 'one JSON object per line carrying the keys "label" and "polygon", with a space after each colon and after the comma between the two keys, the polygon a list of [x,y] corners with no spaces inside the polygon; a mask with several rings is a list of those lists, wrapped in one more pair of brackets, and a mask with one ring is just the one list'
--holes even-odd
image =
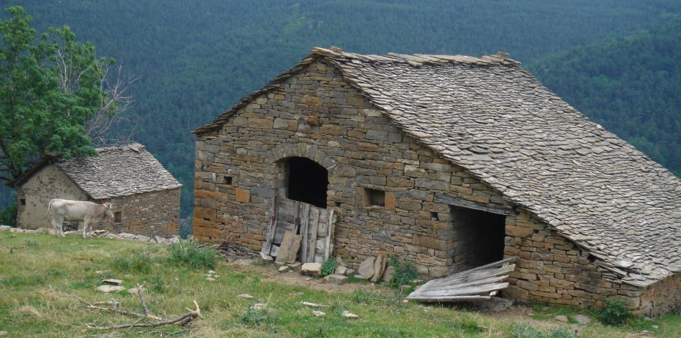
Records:
{"label": "nearer, darker forested slope rising behind the large roof's right end", "polygon": [[681,23],[529,65],[547,87],[681,176]]}

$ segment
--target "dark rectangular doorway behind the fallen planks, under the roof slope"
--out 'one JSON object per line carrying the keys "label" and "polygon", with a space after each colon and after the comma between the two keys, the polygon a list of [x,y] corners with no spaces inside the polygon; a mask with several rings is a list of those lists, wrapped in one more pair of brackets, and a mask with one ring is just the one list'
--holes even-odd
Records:
{"label": "dark rectangular doorway behind the fallen planks, under the roof slope", "polygon": [[506,215],[451,207],[455,241],[455,271],[464,271],[504,259]]}

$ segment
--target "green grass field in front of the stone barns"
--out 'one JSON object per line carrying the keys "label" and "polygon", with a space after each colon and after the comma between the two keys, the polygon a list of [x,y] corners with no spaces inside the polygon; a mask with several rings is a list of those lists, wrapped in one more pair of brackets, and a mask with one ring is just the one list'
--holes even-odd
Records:
{"label": "green grass field in front of the stone barns", "polygon": [[[481,314],[403,303],[382,286],[353,283],[339,291],[321,281],[305,284],[277,278],[274,266],[238,266],[221,260],[213,268],[220,277],[208,282],[208,267],[191,267],[171,257],[169,247],[160,244],[1,231],[0,331],[7,337],[679,337],[681,332],[678,315],[640,319],[619,328],[596,320],[579,326],[553,319],[574,315],[579,311],[574,308],[531,304]],[[178,317],[196,300],[203,318],[186,327],[88,329],[87,323],[106,326],[136,319],[88,309],[50,291],[52,286],[58,293],[90,302],[114,297],[120,308],[142,312],[138,297],[127,291],[109,295],[96,291],[104,278],[123,279],[127,288],[147,282],[144,295],[152,314]],[[237,297],[243,293],[254,298]],[[314,317],[316,309],[303,306],[303,301],[330,307],[321,309],[324,317]],[[262,308],[252,308],[256,303]],[[340,315],[343,310],[360,318],[345,319]]]}

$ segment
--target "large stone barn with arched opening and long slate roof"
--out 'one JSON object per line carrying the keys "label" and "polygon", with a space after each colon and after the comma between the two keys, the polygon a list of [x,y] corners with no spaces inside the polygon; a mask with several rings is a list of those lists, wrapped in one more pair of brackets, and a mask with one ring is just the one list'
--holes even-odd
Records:
{"label": "large stone barn with arched opening and long slate roof", "polygon": [[504,53],[314,48],[195,136],[198,240],[269,251],[274,206],[296,201],[333,211],[354,268],[393,255],[440,277],[517,257],[504,297],[681,305],[681,181]]}

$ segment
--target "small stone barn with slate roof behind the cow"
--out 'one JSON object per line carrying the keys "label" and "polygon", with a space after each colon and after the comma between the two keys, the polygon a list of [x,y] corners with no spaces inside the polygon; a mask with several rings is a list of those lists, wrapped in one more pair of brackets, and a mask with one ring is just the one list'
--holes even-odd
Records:
{"label": "small stone barn with slate roof behind the cow", "polygon": [[138,143],[96,151],[96,156],[69,160],[46,156],[17,180],[17,224],[52,229],[47,204],[61,198],[111,202],[114,229],[108,229],[107,222],[94,224],[93,229],[177,235],[182,184]]}

